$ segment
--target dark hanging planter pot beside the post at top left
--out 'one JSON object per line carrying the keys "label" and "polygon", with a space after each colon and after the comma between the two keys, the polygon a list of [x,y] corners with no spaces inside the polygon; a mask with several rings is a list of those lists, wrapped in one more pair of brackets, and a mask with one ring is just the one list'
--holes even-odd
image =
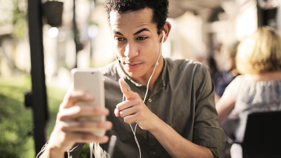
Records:
{"label": "dark hanging planter pot beside the post at top left", "polygon": [[47,1],[43,3],[43,11],[47,18],[47,23],[52,27],[62,25],[63,2]]}

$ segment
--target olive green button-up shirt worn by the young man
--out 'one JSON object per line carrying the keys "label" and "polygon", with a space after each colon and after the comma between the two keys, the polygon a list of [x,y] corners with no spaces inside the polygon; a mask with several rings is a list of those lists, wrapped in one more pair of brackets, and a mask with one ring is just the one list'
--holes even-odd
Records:
{"label": "olive green button-up shirt worn by the young man", "polygon": [[[123,118],[116,117],[114,109],[122,102],[123,94],[118,83],[122,76],[130,89],[144,99],[146,86],[135,82],[127,76],[115,61],[101,68],[105,77],[105,101],[110,111],[108,121],[113,128],[106,135],[117,136],[114,158],[139,157],[133,132]],[[122,74],[122,75],[121,75]],[[171,126],[185,139],[209,148],[214,157],[221,157],[224,150],[225,136],[218,125],[218,114],[214,103],[214,85],[208,69],[200,62],[189,60],[172,60],[164,58],[164,66],[152,91],[148,91],[145,105]],[[134,128],[136,123],[132,124]],[[157,139],[148,131],[137,126],[136,138],[140,144],[141,157],[171,157]],[[77,157],[81,144],[69,152]],[[100,144],[107,150],[108,143]],[[177,151],[182,152],[182,151]],[[188,157],[188,155],[187,155]]]}

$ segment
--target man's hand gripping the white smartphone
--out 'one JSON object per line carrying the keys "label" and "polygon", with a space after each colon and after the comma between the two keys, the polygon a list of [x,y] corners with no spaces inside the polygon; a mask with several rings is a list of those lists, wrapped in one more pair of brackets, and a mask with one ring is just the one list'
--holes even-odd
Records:
{"label": "man's hand gripping the white smartphone", "polygon": [[[95,136],[90,132],[98,130],[109,130],[112,127],[110,121],[79,121],[82,116],[103,116],[108,115],[109,110],[94,105],[75,105],[78,101],[93,101],[94,97],[81,91],[73,91],[73,88],[66,94],[64,101],[59,107],[56,125],[50,136],[46,151],[42,154],[46,157],[60,157],[67,150],[77,143],[108,141],[107,136]],[[45,153],[47,152],[47,154]]]}

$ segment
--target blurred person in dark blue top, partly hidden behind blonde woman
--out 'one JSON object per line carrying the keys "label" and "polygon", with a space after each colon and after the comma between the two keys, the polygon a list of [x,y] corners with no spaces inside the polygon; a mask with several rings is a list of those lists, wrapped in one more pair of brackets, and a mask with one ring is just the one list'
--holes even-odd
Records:
{"label": "blurred person in dark blue top, partly hidden behind blonde woman", "polygon": [[215,85],[215,102],[223,95],[224,89],[234,78],[239,75],[236,70],[235,57],[237,52],[237,46],[239,42],[235,41],[225,47],[224,50],[224,68],[218,71],[213,78]]}

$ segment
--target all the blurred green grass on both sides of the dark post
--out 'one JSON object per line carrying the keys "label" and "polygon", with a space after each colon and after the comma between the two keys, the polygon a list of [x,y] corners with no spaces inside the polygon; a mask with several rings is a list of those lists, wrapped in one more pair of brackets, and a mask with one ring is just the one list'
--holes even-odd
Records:
{"label": "all the blurred green grass on both sides of the dark post", "polygon": [[[33,114],[24,105],[24,92],[31,90],[29,76],[16,78],[0,77],[0,157],[35,157],[32,135]],[[47,140],[55,125],[58,107],[65,91],[47,87],[49,123]],[[81,157],[89,156],[89,146],[84,146]]]}

